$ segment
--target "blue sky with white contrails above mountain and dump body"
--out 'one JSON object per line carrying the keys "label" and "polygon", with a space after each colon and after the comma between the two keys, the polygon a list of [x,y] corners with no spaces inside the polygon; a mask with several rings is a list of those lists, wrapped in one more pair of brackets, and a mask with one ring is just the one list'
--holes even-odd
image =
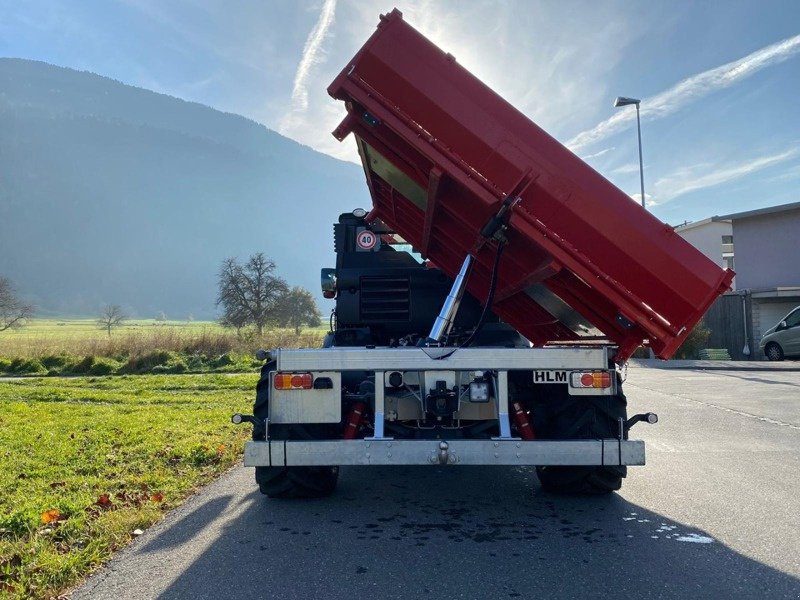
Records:
{"label": "blue sky with white contrails above mountain and dump body", "polygon": [[0,0],[0,56],[245,115],[321,152],[325,89],[396,5],[405,19],[675,224],[800,201],[800,2]]}

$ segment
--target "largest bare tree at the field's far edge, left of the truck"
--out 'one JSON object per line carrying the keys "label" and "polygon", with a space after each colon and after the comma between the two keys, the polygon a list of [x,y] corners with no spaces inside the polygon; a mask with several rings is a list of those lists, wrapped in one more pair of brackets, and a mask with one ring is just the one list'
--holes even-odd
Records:
{"label": "largest bare tree at the field's far edge, left of the truck", "polygon": [[289,286],[275,275],[275,269],[275,263],[263,252],[253,254],[244,264],[236,258],[222,261],[217,306],[223,310],[223,326],[241,330],[252,325],[262,335],[268,323],[278,320],[278,301]]}

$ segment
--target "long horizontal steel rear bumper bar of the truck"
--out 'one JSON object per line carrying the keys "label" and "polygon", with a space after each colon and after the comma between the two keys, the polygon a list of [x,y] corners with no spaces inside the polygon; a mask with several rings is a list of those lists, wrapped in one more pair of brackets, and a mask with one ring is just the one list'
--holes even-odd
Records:
{"label": "long horizontal steel rear bumper bar of the truck", "polygon": [[641,440],[276,440],[247,442],[246,467],[321,465],[643,465]]}

